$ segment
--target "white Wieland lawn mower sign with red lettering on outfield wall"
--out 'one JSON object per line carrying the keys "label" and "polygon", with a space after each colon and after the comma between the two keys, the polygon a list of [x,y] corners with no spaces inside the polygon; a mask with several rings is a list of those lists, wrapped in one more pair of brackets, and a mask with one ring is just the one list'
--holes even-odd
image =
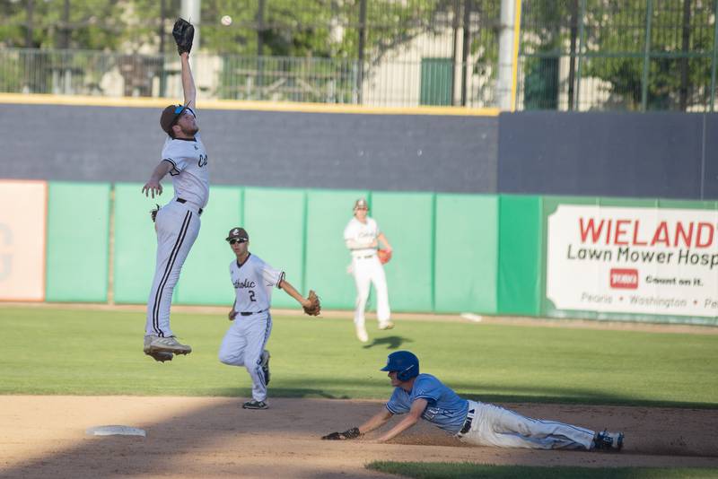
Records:
{"label": "white Wieland lawn mower sign with red lettering on outfield wall", "polygon": [[718,317],[718,211],[558,205],[547,219],[556,309]]}

